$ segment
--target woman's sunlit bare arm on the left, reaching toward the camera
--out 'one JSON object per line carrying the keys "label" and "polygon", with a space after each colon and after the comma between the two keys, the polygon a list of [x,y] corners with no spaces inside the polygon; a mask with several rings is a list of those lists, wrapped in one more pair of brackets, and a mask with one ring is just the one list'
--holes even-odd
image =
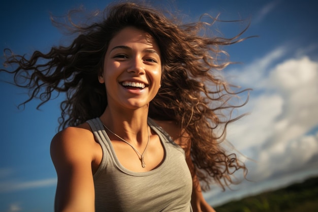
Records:
{"label": "woman's sunlit bare arm on the left, reaching toward the camera", "polygon": [[84,129],[67,128],[52,139],[51,158],[57,173],[55,211],[94,211],[93,152],[88,135]]}

